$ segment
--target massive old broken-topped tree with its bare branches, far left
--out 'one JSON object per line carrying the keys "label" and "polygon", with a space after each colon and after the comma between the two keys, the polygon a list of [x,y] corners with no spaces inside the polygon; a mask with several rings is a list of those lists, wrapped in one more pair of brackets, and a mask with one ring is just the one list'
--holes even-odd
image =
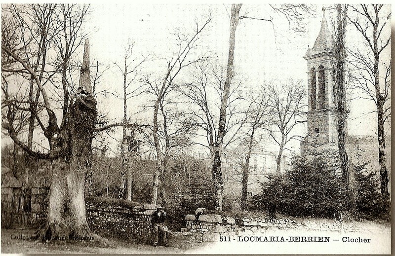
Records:
{"label": "massive old broken-topped tree with its bare branches, far left", "polygon": [[[73,65],[83,41],[82,24],[88,8],[78,4],[11,4],[2,12],[3,79],[16,91],[25,85],[30,88],[30,100],[20,110],[34,115],[49,148],[40,152],[21,139],[11,116],[14,105],[7,101],[2,102],[7,109],[2,127],[30,155],[53,160],[47,221],[38,233],[44,239],[98,238],[89,230],[84,203],[85,173],[91,165],[97,116],[88,40],[77,90]],[[44,118],[37,113],[40,108],[45,110]]]}

